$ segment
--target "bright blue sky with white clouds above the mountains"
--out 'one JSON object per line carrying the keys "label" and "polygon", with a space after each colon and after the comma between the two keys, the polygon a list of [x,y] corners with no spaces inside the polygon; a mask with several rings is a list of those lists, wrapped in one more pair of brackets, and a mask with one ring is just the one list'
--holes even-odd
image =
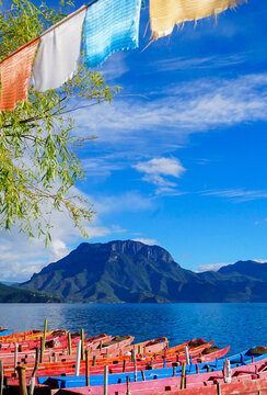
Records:
{"label": "bright blue sky with white clouds above the mountains", "polygon": [[[100,68],[120,95],[74,114],[79,134],[100,137],[79,153],[86,181],[78,189],[97,211],[91,241],[143,239],[190,270],[267,260],[265,2],[186,23],[141,52],[148,19],[147,0],[140,48]],[[51,250],[36,241],[31,259],[7,236],[10,262],[14,242],[22,253],[13,259],[21,278],[82,241],[55,221]]]}

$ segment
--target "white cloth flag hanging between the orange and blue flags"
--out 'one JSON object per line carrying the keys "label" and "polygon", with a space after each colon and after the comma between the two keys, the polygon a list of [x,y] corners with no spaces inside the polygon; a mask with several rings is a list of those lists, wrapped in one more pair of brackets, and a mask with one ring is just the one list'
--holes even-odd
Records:
{"label": "white cloth flag hanging between the orange and blue flags", "polygon": [[83,5],[40,37],[33,67],[36,91],[59,88],[77,72],[85,13],[86,5]]}

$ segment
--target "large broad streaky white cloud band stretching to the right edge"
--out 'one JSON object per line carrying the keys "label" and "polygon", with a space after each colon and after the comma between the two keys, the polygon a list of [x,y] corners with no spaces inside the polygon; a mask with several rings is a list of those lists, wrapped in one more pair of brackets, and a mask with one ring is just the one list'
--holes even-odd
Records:
{"label": "large broad streaky white cloud band stretching to the right edge", "polygon": [[74,116],[82,129],[101,137],[90,143],[95,150],[105,146],[150,156],[175,149],[194,133],[267,121],[267,74],[201,78],[159,88],[149,97],[117,99]]}

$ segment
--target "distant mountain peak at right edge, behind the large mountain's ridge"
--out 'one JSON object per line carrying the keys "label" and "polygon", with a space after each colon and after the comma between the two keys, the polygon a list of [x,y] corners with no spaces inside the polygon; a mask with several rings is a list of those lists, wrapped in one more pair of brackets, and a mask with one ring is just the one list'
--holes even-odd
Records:
{"label": "distant mountain peak at right edge, behind the large mountain's ridge", "polygon": [[218,272],[222,274],[240,273],[253,279],[267,281],[267,262],[259,263],[252,260],[239,261],[234,264],[228,264],[220,268]]}

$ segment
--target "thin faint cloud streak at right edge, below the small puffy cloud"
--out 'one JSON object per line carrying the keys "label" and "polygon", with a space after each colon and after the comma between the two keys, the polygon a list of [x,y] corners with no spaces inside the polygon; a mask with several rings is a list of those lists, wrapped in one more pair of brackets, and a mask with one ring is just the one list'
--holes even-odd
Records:
{"label": "thin faint cloud streak at right edge, below the small puffy cloud", "polygon": [[255,190],[246,191],[244,189],[209,190],[200,192],[205,196],[227,198],[236,202],[247,202],[257,199],[267,199],[267,191]]}

